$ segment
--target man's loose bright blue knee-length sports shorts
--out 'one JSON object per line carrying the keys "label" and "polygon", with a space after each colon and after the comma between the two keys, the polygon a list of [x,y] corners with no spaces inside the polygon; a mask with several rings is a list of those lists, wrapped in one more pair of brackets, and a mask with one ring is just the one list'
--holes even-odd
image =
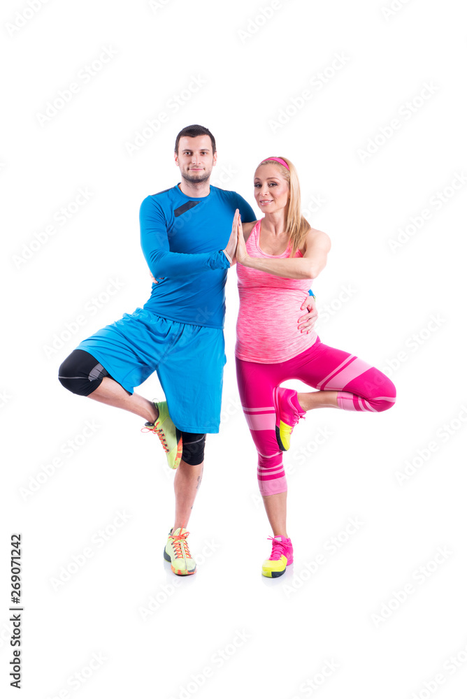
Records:
{"label": "man's loose bright blue knee-length sports shorts", "polygon": [[92,354],[130,394],[157,371],[168,412],[180,431],[219,432],[226,362],[222,330],[179,323],[137,308],[76,349]]}

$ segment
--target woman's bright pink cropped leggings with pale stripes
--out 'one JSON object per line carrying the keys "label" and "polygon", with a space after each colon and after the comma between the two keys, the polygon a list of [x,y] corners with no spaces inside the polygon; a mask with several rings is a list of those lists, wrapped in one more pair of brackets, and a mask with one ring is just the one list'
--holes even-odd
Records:
{"label": "woman's bright pink cropped leggings with pale stripes", "polygon": [[338,391],[342,410],[382,412],[396,401],[396,387],[385,374],[349,352],[323,345],[319,338],[305,352],[278,364],[238,358],[236,363],[240,401],[258,452],[261,495],[287,491],[282,452],[275,439],[276,386],[299,379],[320,391]]}

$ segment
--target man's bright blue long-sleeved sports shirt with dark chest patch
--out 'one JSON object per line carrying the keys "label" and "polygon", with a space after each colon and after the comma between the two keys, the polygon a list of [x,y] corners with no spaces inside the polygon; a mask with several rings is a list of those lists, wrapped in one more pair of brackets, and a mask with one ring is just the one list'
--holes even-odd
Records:
{"label": "man's bright blue long-sleeved sports shirt with dark chest patch", "polygon": [[222,250],[237,208],[243,222],[255,220],[243,197],[213,186],[203,197],[186,196],[176,185],[144,199],[141,247],[158,282],[145,310],[180,323],[224,327],[230,264]]}

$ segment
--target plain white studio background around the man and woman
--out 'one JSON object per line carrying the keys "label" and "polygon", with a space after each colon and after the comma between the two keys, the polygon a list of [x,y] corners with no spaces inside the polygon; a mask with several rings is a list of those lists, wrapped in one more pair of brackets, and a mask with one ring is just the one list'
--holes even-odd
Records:
{"label": "plain white studio background around the man and woman", "polygon": [[[465,696],[465,17],[454,0],[390,2],[2,3],[2,686],[20,532],[23,697]],[[138,207],[179,181],[173,143],[192,123],[217,139],[213,183],[224,173],[250,203],[259,160],[292,159],[333,243],[319,335],[398,391],[381,415],[326,410],[296,429],[295,561],[276,580],[261,576],[271,532],[236,389],[234,271],[222,427],[189,523],[196,575],[162,558],[173,473],[157,439],[57,381],[82,338],[148,298]],[[92,196],[73,212],[80,189]],[[160,396],[157,377],[140,391]]]}

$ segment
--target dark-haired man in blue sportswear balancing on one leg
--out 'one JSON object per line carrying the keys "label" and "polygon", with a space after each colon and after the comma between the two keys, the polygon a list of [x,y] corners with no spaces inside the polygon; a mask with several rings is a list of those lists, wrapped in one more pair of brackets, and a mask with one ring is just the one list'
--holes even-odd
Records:
{"label": "dark-haired man in blue sportswear balancing on one leg", "polygon": [[[182,181],[141,204],[141,247],[156,280],[149,300],[80,343],[59,368],[64,387],[134,412],[159,436],[169,466],[177,468],[175,522],[164,550],[177,575],[196,571],[186,526],[206,433],[219,431],[224,286],[236,250],[232,219],[237,208],[244,222],[255,219],[239,194],[210,187],[216,161],[208,129],[194,124],[180,131],[175,164]],[[134,393],[154,371],[166,395],[159,403]]]}

